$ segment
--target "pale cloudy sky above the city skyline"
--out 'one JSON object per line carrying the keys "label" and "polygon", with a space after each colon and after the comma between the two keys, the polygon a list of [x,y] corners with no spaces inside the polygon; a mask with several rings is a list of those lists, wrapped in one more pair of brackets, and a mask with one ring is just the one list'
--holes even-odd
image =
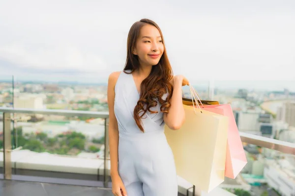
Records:
{"label": "pale cloudy sky above the city skyline", "polygon": [[0,0],[0,77],[107,82],[142,18],[192,84],[295,91],[294,0]]}

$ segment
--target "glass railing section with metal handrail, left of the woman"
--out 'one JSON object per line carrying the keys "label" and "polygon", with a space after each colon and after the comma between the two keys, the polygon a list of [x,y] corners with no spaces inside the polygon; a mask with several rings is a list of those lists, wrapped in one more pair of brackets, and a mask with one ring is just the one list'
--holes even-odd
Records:
{"label": "glass railing section with metal handrail, left of the woman", "polygon": [[5,179],[109,187],[108,113],[12,108],[0,112]]}

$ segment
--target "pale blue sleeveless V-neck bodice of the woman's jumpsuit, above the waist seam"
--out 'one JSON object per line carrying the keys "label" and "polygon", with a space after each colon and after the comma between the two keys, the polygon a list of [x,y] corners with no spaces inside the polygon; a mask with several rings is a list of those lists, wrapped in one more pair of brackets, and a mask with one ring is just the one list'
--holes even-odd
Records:
{"label": "pale blue sleeveless V-neck bodice of the woman's jumpsuit, above the waist seam", "polygon": [[[119,132],[139,133],[133,118],[134,107],[136,106],[140,94],[137,91],[135,81],[130,71],[121,72],[115,86],[115,115],[118,121]],[[163,95],[163,99],[167,94]],[[164,131],[163,113],[160,111],[161,104],[157,101],[157,106],[151,107],[151,111],[158,113],[151,114],[147,111],[142,120],[145,132]]]}

